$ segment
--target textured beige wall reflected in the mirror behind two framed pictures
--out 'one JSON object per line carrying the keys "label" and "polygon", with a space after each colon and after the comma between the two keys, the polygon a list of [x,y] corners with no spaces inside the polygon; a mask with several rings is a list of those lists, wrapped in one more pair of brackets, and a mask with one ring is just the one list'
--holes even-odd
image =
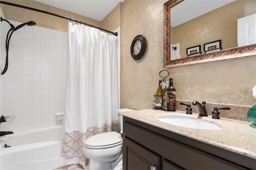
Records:
{"label": "textured beige wall reflected in the mirror behind two framed pictures", "polygon": [[[235,10],[234,10],[235,9]],[[237,47],[237,19],[256,13],[256,0],[236,0],[172,28],[172,44],[180,43],[180,56],[187,57],[186,49],[222,40],[222,49]]]}

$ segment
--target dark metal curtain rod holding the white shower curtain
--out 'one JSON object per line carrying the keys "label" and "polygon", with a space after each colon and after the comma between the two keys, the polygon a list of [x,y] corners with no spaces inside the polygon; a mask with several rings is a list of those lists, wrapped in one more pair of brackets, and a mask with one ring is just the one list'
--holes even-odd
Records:
{"label": "dark metal curtain rod holding the white shower curtain", "polygon": [[68,17],[66,17],[66,16],[60,16],[60,15],[58,15],[58,14],[54,14],[54,13],[52,13],[52,12],[47,12],[47,11],[43,11],[43,10],[38,10],[38,9],[36,9],[36,8],[31,8],[31,7],[28,7],[28,6],[13,4],[13,3],[10,3],[10,2],[4,2],[4,1],[1,1],[1,0],[0,0],[0,4],[10,5],[10,6],[16,6],[16,7],[19,7],[19,8],[25,8],[25,9],[27,9],[27,10],[32,10],[32,11],[41,12],[41,13],[44,13],[44,14],[48,14],[48,15],[52,15],[52,16],[64,18],[64,19],[66,19],[66,20],[74,21],[74,22],[76,22],[76,23],[80,23],[80,24],[84,24],[84,25],[89,26],[89,27],[94,27],[94,28],[96,28],[96,29],[100,29],[101,31],[104,31],[104,32],[107,32],[107,33],[111,33],[111,34],[113,34],[113,35],[115,35],[115,36],[117,36],[117,34],[118,34],[117,32],[114,33],[114,32],[108,31],[108,30],[103,29],[103,28],[100,28],[100,27],[96,27],[96,26],[94,26],[94,25],[90,25],[90,24],[85,23],[85,22],[82,22],[82,21],[78,21],[78,20],[75,20],[75,19],[72,19],[72,18],[68,18]]}

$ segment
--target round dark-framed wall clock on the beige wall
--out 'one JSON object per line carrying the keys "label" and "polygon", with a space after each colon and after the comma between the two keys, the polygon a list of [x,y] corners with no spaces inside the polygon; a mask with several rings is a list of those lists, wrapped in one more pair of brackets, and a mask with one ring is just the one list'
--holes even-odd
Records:
{"label": "round dark-framed wall clock on the beige wall", "polygon": [[146,51],[146,38],[143,35],[137,35],[131,45],[131,55],[134,60],[141,59]]}

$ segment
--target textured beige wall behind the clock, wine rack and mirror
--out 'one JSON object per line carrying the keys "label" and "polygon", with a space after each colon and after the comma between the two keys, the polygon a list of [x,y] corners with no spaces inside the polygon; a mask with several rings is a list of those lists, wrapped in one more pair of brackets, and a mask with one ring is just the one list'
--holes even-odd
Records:
{"label": "textured beige wall behind the clock, wine rack and mirror", "polygon": [[[122,4],[121,107],[152,108],[163,69],[163,4],[167,0],[125,0]],[[148,47],[142,59],[130,55],[132,39],[142,34]],[[208,42],[208,40],[206,40]],[[178,100],[252,106],[256,99],[256,55],[168,68]]]}

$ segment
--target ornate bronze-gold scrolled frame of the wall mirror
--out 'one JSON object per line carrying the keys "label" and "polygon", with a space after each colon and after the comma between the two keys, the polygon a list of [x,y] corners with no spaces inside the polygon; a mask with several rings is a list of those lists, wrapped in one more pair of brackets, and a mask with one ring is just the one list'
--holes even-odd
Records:
{"label": "ornate bronze-gold scrolled frame of the wall mirror", "polygon": [[164,3],[164,68],[256,55],[256,44],[252,44],[171,60],[170,9],[182,1],[184,0],[168,0],[166,3]]}

